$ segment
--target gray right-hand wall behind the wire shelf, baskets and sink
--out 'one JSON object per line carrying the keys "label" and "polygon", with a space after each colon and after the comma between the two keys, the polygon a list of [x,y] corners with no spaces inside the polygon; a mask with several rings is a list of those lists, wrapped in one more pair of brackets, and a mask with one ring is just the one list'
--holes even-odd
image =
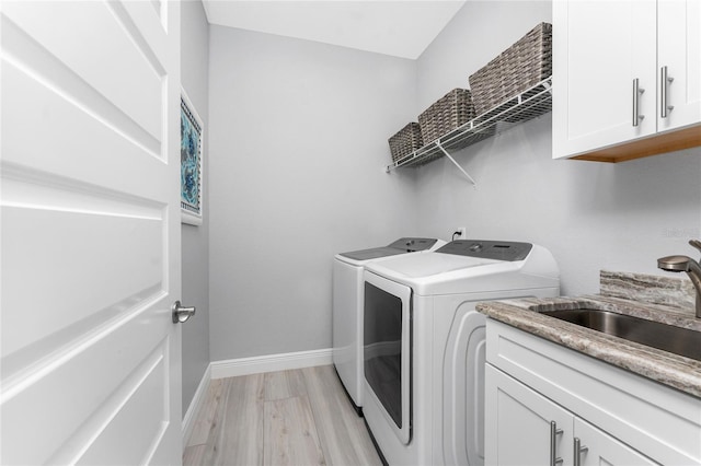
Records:
{"label": "gray right-hand wall behind the wire shelf, baskets and sink", "polygon": [[[541,21],[551,21],[550,2],[466,3],[418,59],[420,112],[468,86],[469,74]],[[539,243],[560,264],[563,294],[598,292],[601,268],[664,275],[657,257],[694,254],[687,241],[701,236],[700,149],[620,164],[553,161],[551,118],[458,152],[476,188],[445,159],[418,168],[421,234],[467,225],[470,237]]]}

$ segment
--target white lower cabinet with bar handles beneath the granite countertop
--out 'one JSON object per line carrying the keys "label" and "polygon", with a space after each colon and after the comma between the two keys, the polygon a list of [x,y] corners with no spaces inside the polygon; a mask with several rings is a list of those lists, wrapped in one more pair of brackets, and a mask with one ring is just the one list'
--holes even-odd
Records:
{"label": "white lower cabinet with bar handles beneath the granite countertop", "polygon": [[487,466],[701,465],[700,398],[491,318],[486,353]]}

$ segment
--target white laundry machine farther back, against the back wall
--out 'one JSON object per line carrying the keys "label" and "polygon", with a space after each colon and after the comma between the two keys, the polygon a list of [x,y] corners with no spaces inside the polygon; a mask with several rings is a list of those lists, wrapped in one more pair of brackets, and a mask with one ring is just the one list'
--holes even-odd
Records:
{"label": "white laundry machine farther back, against the back wall", "polygon": [[363,270],[393,256],[435,251],[445,241],[401,237],[388,246],[341,253],[333,261],[333,363],[358,415],[363,407]]}

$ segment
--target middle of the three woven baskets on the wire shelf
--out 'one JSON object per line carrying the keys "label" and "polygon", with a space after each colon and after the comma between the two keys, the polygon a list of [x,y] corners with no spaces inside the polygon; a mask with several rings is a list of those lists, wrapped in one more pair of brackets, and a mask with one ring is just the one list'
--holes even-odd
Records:
{"label": "middle of the three woven baskets on the wire shelf", "polygon": [[474,118],[470,91],[453,89],[418,115],[421,135],[432,142]]}

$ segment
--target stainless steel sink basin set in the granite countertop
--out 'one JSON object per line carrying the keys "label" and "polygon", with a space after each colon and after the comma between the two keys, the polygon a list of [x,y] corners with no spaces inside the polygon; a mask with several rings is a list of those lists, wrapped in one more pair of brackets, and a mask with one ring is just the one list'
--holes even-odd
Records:
{"label": "stainless steel sink basin set in the granite countertop", "polygon": [[541,314],[701,361],[701,331],[600,310],[545,311]]}

